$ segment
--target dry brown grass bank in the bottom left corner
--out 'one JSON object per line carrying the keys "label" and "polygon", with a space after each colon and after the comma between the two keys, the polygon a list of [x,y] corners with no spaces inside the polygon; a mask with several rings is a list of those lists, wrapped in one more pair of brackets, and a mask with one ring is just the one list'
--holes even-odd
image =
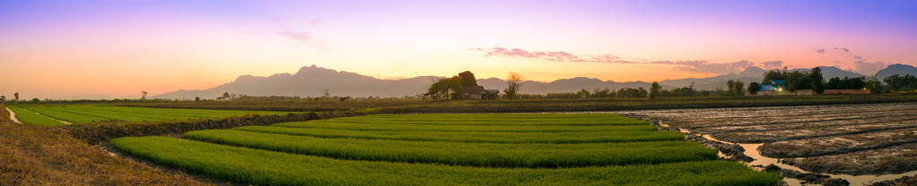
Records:
{"label": "dry brown grass bank in the bottom left corner", "polygon": [[6,115],[0,115],[0,144],[0,185],[207,185],[111,156],[60,128],[12,123]]}

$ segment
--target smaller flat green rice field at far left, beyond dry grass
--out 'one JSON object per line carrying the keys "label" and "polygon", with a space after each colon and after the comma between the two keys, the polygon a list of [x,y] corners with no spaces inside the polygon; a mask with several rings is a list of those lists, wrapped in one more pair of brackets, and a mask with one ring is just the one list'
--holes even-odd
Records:
{"label": "smaller flat green rice field at far left, beyond dry grass", "polygon": [[[16,117],[26,124],[59,126],[66,123],[97,121],[168,121],[184,119],[219,119],[231,116],[285,115],[282,111],[155,109],[99,105],[13,106]],[[61,122],[64,121],[64,122]]]}

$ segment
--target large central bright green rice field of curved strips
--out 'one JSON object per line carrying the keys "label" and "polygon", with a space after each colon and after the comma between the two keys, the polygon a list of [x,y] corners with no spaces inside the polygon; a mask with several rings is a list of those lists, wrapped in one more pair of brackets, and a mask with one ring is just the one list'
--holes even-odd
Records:
{"label": "large central bright green rice field of curved strips", "polygon": [[[613,140],[608,140],[613,139]],[[779,175],[613,114],[370,115],[183,139],[127,137],[117,150],[256,185],[777,185]]]}

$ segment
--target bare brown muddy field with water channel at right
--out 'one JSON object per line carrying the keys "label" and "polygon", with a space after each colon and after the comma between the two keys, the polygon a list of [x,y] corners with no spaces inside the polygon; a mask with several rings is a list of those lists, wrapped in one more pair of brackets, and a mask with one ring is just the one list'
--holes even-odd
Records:
{"label": "bare brown muddy field with water channel at right", "polygon": [[725,155],[741,150],[748,154],[738,145],[754,148],[757,159],[779,160],[772,164],[786,166],[784,170],[832,175],[851,185],[917,174],[917,103],[616,113],[657,121],[690,133],[689,138],[718,141],[719,145],[706,143]]}

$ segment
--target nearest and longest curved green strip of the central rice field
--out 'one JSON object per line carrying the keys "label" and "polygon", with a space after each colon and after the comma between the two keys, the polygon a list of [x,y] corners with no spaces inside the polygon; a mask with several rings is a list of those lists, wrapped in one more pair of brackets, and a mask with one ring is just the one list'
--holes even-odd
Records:
{"label": "nearest and longest curved green strip of the central rice field", "polygon": [[777,185],[779,175],[720,160],[568,169],[505,169],[335,160],[167,137],[112,146],[138,158],[256,185]]}

